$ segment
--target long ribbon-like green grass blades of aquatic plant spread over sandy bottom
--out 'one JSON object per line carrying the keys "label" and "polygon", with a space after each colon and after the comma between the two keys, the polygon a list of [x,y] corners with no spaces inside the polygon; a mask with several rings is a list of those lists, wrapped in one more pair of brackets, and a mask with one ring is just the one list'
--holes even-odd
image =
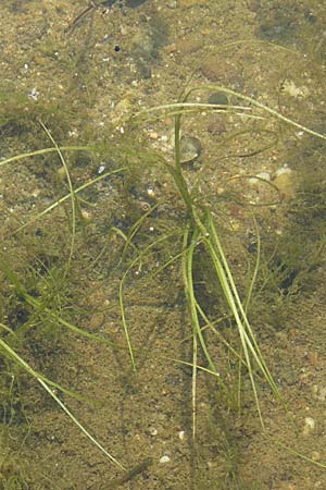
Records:
{"label": "long ribbon-like green grass blades of aquatic plant spread over sandy bottom", "polygon": [[[55,281],[65,281],[70,277],[70,271],[74,261],[74,254],[76,250],[76,233],[77,233],[77,218],[78,218],[78,206],[82,203],[82,197],[79,196],[85,191],[89,191],[95,187],[100,181],[118,174],[125,174],[127,172],[133,172],[135,168],[137,172],[141,172],[145,167],[150,168],[151,166],[160,166],[172,176],[175,186],[179,193],[180,203],[184,207],[184,212],[174,225],[172,225],[172,220],[167,220],[163,223],[160,230],[161,234],[155,235],[154,240],[143,237],[141,238],[142,247],[137,246],[137,240],[141,233],[142,224],[146,220],[154,216],[156,210],[156,205],[150,205],[145,212],[140,212],[138,219],[128,226],[118,226],[114,223],[110,226],[110,238],[112,236],[117,236],[122,242],[121,254],[117,261],[117,266],[123,266],[124,271],[120,280],[118,286],[118,301],[122,323],[124,327],[126,346],[129,352],[129,357],[131,362],[131,367],[137,370],[137,356],[138,352],[133,346],[133,338],[129,332],[129,326],[126,315],[126,301],[124,296],[124,289],[127,283],[129,273],[135,270],[135,268],[141,268],[142,264],[148,260],[152,255],[158,253],[164,258],[163,264],[160,265],[159,270],[153,272],[152,275],[158,274],[160,271],[167,269],[172,264],[177,261],[180,262],[181,279],[184,282],[184,292],[187,299],[189,317],[191,319],[192,330],[189,332],[192,338],[192,358],[191,359],[174,359],[175,363],[187,365],[192,368],[192,433],[196,437],[197,428],[197,376],[198,371],[202,370],[213,377],[216,380],[217,387],[223,393],[225,393],[225,400],[227,403],[235,403],[235,405],[240,407],[240,391],[241,382],[244,376],[250,379],[253,397],[255,400],[256,409],[259,418],[264,429],[263,414],[260,404],[259,395],[259,384],[263,379],[272,390],[274,396],[279,401],[280,404],[285,406],[277,384],[271,373],[267,363],[260,348],[259,341],[256,340],[253,327],[249,320],[248,309],[250,306],[251,297],[253,295],[254,284],[260,269],[261,260],[261,242],[260,232],[258,226],[255,226],[256,236],[256,258],[253,265],[253,270],[251,278],[249,280],[249,286],[247,293],[243,294],[239,292],[239,286],[236,283],[235,274],[231,270],[229,262],[228,250],[223,244],[221,236],[221,229],[218,221],[216,220],[216,213],[211,203],[206,203],[204,196],[201,196],[197,189],[190,188],[186,177],[185,170],[183,168],[181,158],[181,125],[183,121],[189,114],[201,114],[203,111],[220,111],[222,114],[226,113],[225,107],[212,103],[198,103],[189,102],[190,96],[197,90],[217,90],[225,93],[230,97],[237,98],[248,106],[241,105],[229,105],[227,110],[231,111],[235,117],[246,118],[247,120],[263,120],[264,118],[276,119],[283,124],[288,124],[292,127],[299,128],[312,136],[326,139],[326,137],[313,130],[310,130],[288,118],[283,117],[277,111],[269,109],[262,103],[249,98],[244,95],[238,94],[234,90],[229,90],[225,87],[216,85],[202,85],[200,87],[187,87],[181,94],[177,103],[160,106],[145,110],[136,115],[134,115],[129,121],[124,121],[126,126],[133,131],[135,130],[135,124],[143,124],[148,121],[158,121],[162,117],[174,117],[174,158],[173,162],[168,161],[164,156],[158,151],[153,151],[146,147],[139,147],[136,143],[131,144],[130,140],[122,138],[114,146],[114,156],[117,160],[123,161],[121,166],[115,166],[114,170],[104,172],[93,179],[89,179],[84,184],[78,187],[74,186],[73,179],[71,177],[71,170],[66,162],[65,155],[67,152],[99,152],[102,150],[100,146],[61,146],[52,137],[48,126],[42,124],[46,135],[50,138],[52,146],[50,148],[40,149],[37,151],[30,151],[22,154],[15,157],[11,157],[7,160],[0,162],[0,167],[9,166],[13,162],[17,162],[25,159],[35,158],[37,156],[52,155],[54,154],[60,161],[61,167],[64,170],[64,177],[66,182],[66,193],[64,196],[58,198],[50,206],[48,206],[42,211],[37,211],[35,216],[26,223],[18,224],[13,231],[14,236],[20,236],[29,226],[36,226],[36,223],[41,219],[59,209],[63,205],[70,204],[68,217],[68,230],[70,240],[68,245],[65,247],[65,260],[61,264],[59,272],[54,272],[54,269],[48,271],[48,278],[46,282],[38,281],[38,289],[26,287],[24,281],[21,280],[18,273],[14,271],[12,264],[8,261],[8,257],[2,255],[0,260],[0,269],[7,281],[10,282],[11,286],[16,292],[16,299],[24,303],[25,307],[28,308],[28,315],[33,316],[35,320],[36,317],[42,319],[48,318],[53,321],[53,323],[59,324],[62,328],[68,329],[77,335],[83,338],[101,342],[110,348],[117,350],[124,348],[121,344],[103,339],[100,335],[90,333],[78,326],[76,326],[70,319],[63,317],[61,310],[61,302],[53,302],[53,294],[55,292]],[[256,109],[256,112],[252,110]],[[121,158],[118,158],[121,157]],[[135,172],[135,173],[137,173]],[[131,179],[133,181],[133,179]],[[124,185],[126,183],[124,182]],[[266,185],[271,185],[266,183]],[[171,205],[170,205],[171,206]],[[178,206],[179,208],[179,206]],[[137,213],[135,213],[136,216]],[[253,220],[254,221],[254,220]],[[173,254],[171,253],[170,244],[174,243]],[[99,255],[93,259],[93,265],[100,261],[102,254],[105,250],[106,243],[104,247],[99,253]],[[179,248],[177,248],[179,246]],[[164,254],[164,249],[168,249],[168,253]],[[165,250],[166,252],[166,250]],[[197,270],[200,269],[198,265],[204,264],[204,268],[210,270],[211,273],[211,294],[213,298],[212,303],[215,302],[216,296],[222,296],[221,302],[224,302],[226,306],[227,315],[226,318],[229,323],[237,329],[239,342],[236,345],[231,345],[228,340],[226,340],[223,333],[218,330],[218,321],[212,319],[206,311],[205,305],[201,302],[198,291],[196,289]],[[205,270],[203,271],[205,273]],[[37,275],[37,274],[36,274]],[[51,282],[52,281],[52,282]],[[64,282],[61,282],[63,284]],[[40,286],[40,284],[42,286]],[[46,284],[46,285],[45,285]],[[49,294],[50,293],[50,294]],[[14,331],[10,326],[4,322],[1,323],[1,329],[3,336],[0,339],[0,346],[3,357],[13,363],[15,366],[24,369],[29,376],[32,376],[37,382],[46,390],[46,392],[55,401],[55,403],[64,409],[71,420],[78,426],[78,428],[95,443],[112,462],[114,462],[121,469],[124,466],[112,456],[90,433],[85,429],[83,424],[80,424],[72,412],[67,408],[65,404],[61,401],[52,388],[55,388],[59,392],[66,393],[67,395],[78,397],[84,400],[83,396],[77,395],[74,391],[67,390],[59,383],[51,381],[48,377],[45,377],[41,372],[32,368],[28,363],[25,362],[22,355],[18,353],[18,344],[15,343],[16,339],[21,335],[21,340],[24,340],[26,332],[34,328],[35,321],[28,322],[24,321],[22,328]],[[236,396],[233,393],[231,388],[228,385],[226,379],[221,376],[221,366],[218,365],[218,359],[214,357],[211,348],[210,342],[206,340],[206,332],[210,331],[212,334],[218,339],[218,341],[225,346],[229,352],[230,356],[236,359],[238,364],[239,372],[239,389]],[[199,352],[202,352],[205,359],[205,365],[202,366],[199,363]],[[244,373],[246,372],[246,373]],[[138,465],[136,466],[136,469]],[[133,469],[129,471],[133,475]],[[125,481],[125,480],[123,480]]]}

